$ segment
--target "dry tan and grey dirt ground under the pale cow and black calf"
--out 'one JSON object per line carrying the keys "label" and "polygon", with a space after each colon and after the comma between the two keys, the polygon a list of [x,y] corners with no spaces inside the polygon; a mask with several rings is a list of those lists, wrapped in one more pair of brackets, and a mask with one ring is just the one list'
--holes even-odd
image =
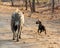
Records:
{"label": "dry tan and grey dirt ground under the pale cow and black calf", "polygon": [[47,34],[42,32],[38,35],[37,18],[25,16],[22,39],[19,42],[13,41],[10,29],[11,9],[15,10],[13,7],[0,6],[0,48],[60,48],[60,19],[42,21]]}

